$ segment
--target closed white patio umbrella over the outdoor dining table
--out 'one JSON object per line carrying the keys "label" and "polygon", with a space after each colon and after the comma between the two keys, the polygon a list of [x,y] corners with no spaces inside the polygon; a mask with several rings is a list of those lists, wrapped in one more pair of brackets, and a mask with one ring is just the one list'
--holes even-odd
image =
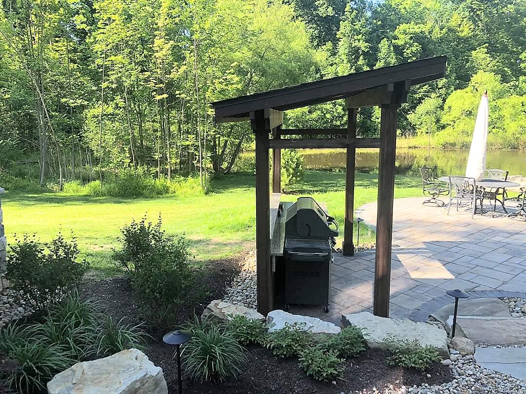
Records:
{"label": "closed white patio umbrella over the outdoor dining table", "polygon": [[488,91],[484,92],[480,100],[477,120],[473,130],[473,138],[469,148],[466,177],[480,181],[484,178],[486,169],[486,146],[488,141]]}

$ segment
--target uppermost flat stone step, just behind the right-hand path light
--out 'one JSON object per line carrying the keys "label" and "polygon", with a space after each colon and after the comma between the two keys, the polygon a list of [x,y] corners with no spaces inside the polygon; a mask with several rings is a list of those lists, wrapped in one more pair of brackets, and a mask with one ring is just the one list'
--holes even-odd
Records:
{"label": "uppermost flat stone step, just behind the right-hand path light", "polygon": [[[431,316],[446,324],[448,317],[453,315],[454,306],[454,302],[444,305]],[[499,298],[460,299],[458,316],[511,317],[508,306]]]}

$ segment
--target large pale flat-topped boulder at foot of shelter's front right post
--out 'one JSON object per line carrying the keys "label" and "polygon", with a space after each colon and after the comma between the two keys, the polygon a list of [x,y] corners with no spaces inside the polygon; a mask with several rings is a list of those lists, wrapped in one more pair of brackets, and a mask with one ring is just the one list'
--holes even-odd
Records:
{"label": "large pale flat-topped boulder at foot of shelter's front right post", "polygon": [[436,347],[442,357],[449,358],[446,331],[431,324],[379,317],[369,312],[342,315],[341,324],[343,327],[353,325],[362,328],[370,348],[392,348],[392,344],[385,342],[387,337],[409,341],[416,338],[420,345]]}

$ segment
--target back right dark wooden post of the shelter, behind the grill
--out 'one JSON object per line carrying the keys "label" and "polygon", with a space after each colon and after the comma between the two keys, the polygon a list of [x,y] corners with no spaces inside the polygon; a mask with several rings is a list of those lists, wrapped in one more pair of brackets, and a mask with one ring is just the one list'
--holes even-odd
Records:
{"label": "back right dark wooden post of the shelter, behind the grill", "polygon": [[[355,245],[352,242],[352,226],[355,211],[355,167],[356,167],[356,117],[358,109],[347,109],[347,164],[345,175],[345,227],[343,229],[343,255],[355,254]],[[350,142],[352,141],[352,143]]]}

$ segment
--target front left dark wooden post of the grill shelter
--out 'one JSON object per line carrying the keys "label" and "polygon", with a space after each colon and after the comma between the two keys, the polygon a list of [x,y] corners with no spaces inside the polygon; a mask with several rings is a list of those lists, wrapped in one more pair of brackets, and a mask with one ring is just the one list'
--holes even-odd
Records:
{"label": "front left dark wooden post of the grill shelter", "polygon": [[272,310],[270,272],[270,190],[268,136],[265,112],[258,110],[251,117],[256,133],[256,270],[258,312],[266,315]]}

